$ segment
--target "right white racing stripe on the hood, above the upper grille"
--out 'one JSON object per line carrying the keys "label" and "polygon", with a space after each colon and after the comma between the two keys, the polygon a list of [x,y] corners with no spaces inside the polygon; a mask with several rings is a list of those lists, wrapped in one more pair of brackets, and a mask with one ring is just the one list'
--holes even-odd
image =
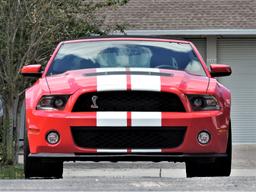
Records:
{"label": "right white racing stripe on the hood, above the upper grille", "polygon": [[[131,68],[130,71],[157,72],[159,69]],[[131,90],[161,91],[161,77],[155,75],[131,75]]]}

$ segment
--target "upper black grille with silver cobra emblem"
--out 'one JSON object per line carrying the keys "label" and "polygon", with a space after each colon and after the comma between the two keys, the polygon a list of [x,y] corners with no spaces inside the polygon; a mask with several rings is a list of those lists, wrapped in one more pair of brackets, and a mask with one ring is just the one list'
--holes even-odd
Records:
{"label": "upper black grille with silver cobra emblem", "polygon": [[[96,98],[94,102],[93,97]],[[105,91],[81,95],[77,99],[72,111],[185,112],[185,109],[180,98],[173,93],[153,91]]]}

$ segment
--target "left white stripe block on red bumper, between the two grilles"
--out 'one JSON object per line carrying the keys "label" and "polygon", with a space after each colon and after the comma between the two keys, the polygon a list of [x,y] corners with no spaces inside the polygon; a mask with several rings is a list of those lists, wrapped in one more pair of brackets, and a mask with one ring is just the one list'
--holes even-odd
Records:
{"label": "left white stripe block on red bumper, between the two grilles", "polygon": [[97,127],[126,127],[127,112],[97,112]]}

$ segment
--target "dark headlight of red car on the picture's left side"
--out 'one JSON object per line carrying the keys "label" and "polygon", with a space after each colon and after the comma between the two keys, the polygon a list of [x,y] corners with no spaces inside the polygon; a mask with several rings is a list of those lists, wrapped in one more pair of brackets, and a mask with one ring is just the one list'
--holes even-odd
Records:
{"label": "dark headlight of red car on the picture's left side", "polygon": [[43,96],[36,106],[38,110],[62,110],[68,101],[68,95]]}

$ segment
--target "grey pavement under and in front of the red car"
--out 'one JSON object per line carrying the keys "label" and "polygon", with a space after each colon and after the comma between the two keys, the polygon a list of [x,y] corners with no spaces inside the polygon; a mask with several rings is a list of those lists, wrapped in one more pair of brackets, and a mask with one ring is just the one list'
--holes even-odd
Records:
{"label": "grey pavement under and in front of the red car", "polygon": [[186,178],[184,163],[67,162],[64,178],[0,180],[0,191],[256,191],[256,145],[234,145],[230,177]]}

